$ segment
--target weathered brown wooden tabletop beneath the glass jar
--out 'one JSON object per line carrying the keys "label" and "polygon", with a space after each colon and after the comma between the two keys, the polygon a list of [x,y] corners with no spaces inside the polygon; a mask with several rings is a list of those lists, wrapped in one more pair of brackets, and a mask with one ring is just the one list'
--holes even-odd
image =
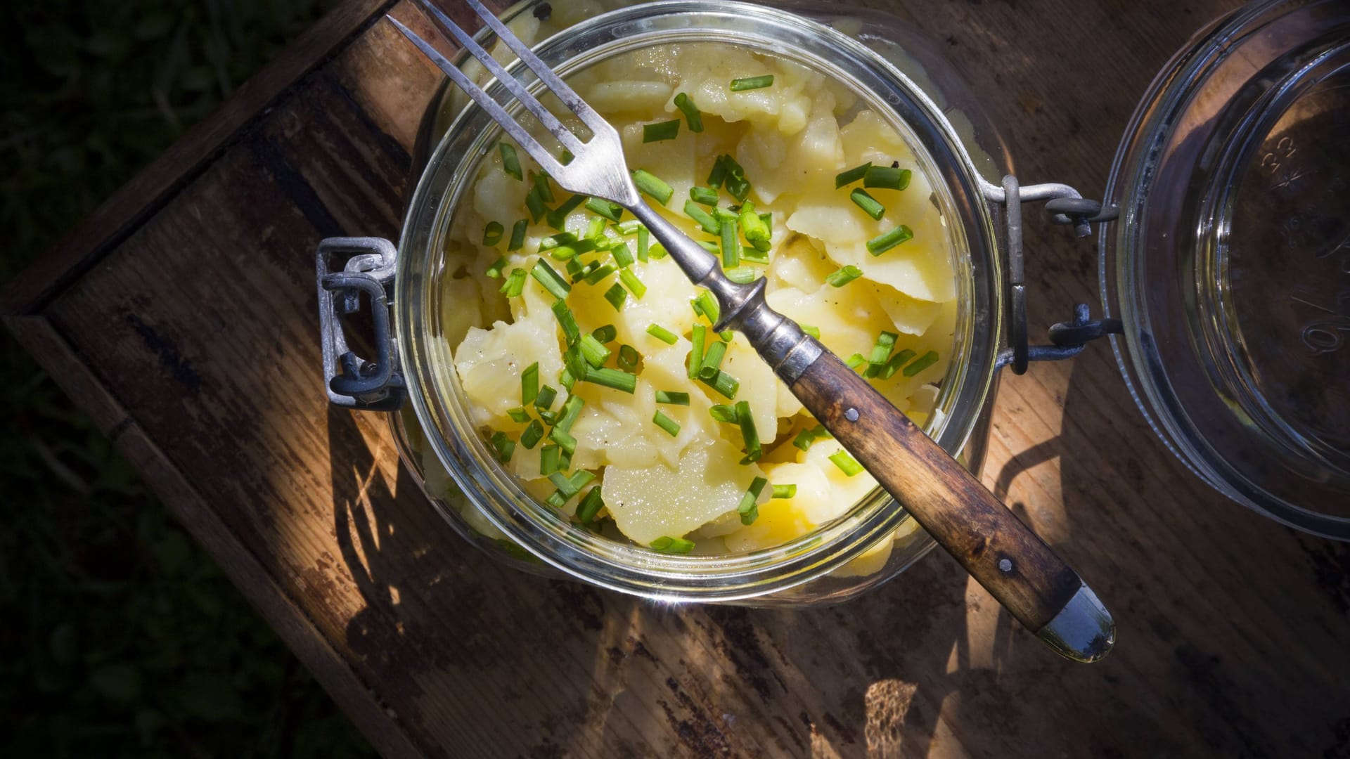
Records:
{"label": "weathered brown wooden tabletop beneath the glass jar", "polygon": [[[1153,73],[1235,3],[905,3],[1023,181],[1102,190]],[[352,0],[18,278],[5,324],[387,755],[1350,756],[1350,548],[1211,492],[1106,346],[1006,377],[986,482],[1116,613],[1054,658],[933,554],[855,602],[657,606],[495,565],[325,407],[313,248],[394,235],[439,82]],[[1096,303],[1031,221],[1034,325]]]}

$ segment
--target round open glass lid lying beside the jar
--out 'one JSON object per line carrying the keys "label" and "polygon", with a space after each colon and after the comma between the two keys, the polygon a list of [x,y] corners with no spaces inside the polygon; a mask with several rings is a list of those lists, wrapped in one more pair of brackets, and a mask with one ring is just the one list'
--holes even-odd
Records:
{"label": "round open glass lid lying beside the jar", "polygon": [[1154,431],[1228,497],[1350,539],[1350,4],[1254,3],[1116,154],[1102,300]]}

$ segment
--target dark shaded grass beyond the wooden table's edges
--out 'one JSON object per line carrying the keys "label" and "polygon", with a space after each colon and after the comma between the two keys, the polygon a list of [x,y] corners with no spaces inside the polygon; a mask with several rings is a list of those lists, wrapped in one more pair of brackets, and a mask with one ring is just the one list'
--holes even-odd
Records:
{"label": "dark shaded grass beyond the wooden table's edges", "polygon": [[[332,4],[0,4],[0,282]],[[3,340],[0,755],[371,754],[107,439]]]}

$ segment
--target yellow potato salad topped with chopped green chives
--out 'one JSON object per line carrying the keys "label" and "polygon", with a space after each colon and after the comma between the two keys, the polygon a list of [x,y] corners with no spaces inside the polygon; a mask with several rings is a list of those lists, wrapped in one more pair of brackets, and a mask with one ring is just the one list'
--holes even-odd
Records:
{"label": "yellow potato salad topped with chopped green chives", "polygon": [[[764,277],[772,308],[917,424],[936,421],[952,244],[887,119],[817,72],[725,45],[629,53],[570,82],[622,135],[647,203],[732,280]],[[474,423],[575,523],[662,552],[734,554],[802,536],[876,488],[742,335],[713,330],[710,293],[630,213],[563,190],[514,145],[493,146],[450,238],[447,261],[463,265],[443,278],[443,332]]]}

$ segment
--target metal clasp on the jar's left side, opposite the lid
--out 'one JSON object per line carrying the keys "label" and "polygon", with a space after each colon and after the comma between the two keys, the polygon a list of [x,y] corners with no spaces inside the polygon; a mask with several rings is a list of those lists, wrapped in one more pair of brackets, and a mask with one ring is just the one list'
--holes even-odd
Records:
{"label": "metal clasp on the jar's left side, opposite the lid", "polygon": [[[339,257],[347,257],[333,271]],[[319,243],[319,327],[323,342],[324,386],[328,402],[362,411],[397,411],[406,388],[390,330],[387,285],[394,281],[398,250],[382,238],[328,238]],[[360,312],[360,296],[370,298],[373,350],[367,361],[347,347],[343,317]]]}

